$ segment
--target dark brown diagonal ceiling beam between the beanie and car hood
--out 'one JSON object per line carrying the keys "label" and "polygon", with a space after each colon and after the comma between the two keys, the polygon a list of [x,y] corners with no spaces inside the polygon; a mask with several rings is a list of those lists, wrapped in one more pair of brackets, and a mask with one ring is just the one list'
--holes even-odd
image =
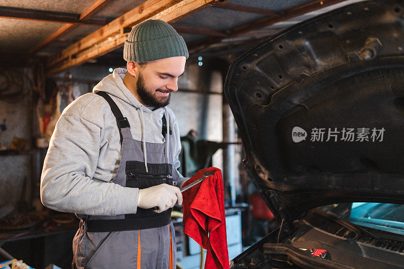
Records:
{"label": "dark brown diagonal ceiling beam between the beanie and car hood", "polygon": [[[294,17],[298,17],[301,15],[304,15],[306,13],[316,11],[328,6],[332,6],[341,2],[344,2],[347,0],[317,0],[312,3],[309,3],[307,5],[299,6],[293,9],[288,10],[287,12],[284,13],[283,16],[270,16],[266,17],[264,19],[260,19],[251,23],[247,23],[245,25],[236,27],[230,31],[229,36],[230,37],[237,37],[240,35],[244,35],[245,33],[258,30],[264,27],[268,27],[270,25],[273,25],[277,22],[281,21],[286,21]],[[203,49],[205,47],[208,47],[211,44],[221,42],[224,38],[223,37],[209,37],[203,40],[195,41],[191,44],[188,45],[188,50],[190,50],[190,53],[193,51],[198,51],[200,49]]]}

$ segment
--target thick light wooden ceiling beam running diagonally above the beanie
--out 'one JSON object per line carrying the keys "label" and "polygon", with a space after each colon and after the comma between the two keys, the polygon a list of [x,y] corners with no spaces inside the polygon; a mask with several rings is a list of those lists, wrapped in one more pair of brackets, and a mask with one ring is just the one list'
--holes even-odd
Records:
{"label": "thick light wooden ceiling beam running diagonally above the beanie", "polygon": [[147,0],[51,58],[47,63],[46,76],[60,73],[121,47],[127,39],[130,27],[147,19],[174,23],[218,1],[222,0]]}

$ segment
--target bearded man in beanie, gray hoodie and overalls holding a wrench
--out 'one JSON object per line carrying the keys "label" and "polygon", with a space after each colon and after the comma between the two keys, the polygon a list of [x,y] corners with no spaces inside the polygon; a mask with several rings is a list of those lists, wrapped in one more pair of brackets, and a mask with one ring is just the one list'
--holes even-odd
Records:
{"label": "bearded man in beanie, gray hoodie and overalls holding a wrench", "polygon": [[187,58],[173,27],[145,21],[125,42],[127,70],[115,69],[63,111],[41,200],[80,218],[73,268],[175,268],[171,210],[187,178],[177,172],[179,129],[166,105]]}

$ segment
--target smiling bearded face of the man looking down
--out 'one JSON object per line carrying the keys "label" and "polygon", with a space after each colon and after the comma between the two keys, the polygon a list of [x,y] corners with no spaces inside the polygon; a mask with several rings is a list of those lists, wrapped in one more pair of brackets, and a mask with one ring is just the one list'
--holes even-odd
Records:
{"label": "smiling bearded face of the man looking down", "polygon": [[186,58],[171,57],[148,62],[140,67],[136,82],[139,101],[146,106],[164,107],[171,92],[178,90],[178,77],[184,73]]}

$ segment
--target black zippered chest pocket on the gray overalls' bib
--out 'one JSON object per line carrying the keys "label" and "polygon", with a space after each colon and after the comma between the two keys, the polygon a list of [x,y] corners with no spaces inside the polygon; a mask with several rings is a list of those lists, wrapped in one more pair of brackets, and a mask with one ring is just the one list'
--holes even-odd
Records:
{"label": "black zippered chest pocket on the gray overalls' bib", "polygon": [[171,164],[147,164],[148,172],[144,163],[136,160],[126,162],[126,187],[145,189],[163,183],[177,185],[173,180],[173,166]]}

